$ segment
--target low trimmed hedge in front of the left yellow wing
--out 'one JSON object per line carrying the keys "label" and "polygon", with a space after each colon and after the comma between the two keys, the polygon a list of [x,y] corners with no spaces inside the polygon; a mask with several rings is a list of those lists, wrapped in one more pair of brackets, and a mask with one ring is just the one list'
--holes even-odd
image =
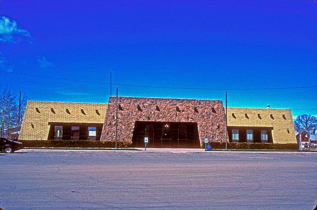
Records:
{"label": "low trimmed hedge in front of the left yellow wing", "polygon": [[[87,140],[19,140],[24,147],[64,147],[64,148],[114,148],[112,141],[87,141]],[[118,148],[130,147],[132,142],[118,141]]]}

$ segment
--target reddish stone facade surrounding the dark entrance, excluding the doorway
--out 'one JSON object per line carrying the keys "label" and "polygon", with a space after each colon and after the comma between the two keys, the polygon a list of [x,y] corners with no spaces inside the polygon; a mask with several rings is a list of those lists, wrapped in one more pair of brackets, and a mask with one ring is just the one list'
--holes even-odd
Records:
{"label": "reddish stone facade surrounding the dark entrance, excluding the doorway", "polygon": [[[110,97],[102,141],[115,141],[115,97]],[[136,121],[197,123],[200,141],[225,140],[221,100],[118,97],[118,140],[132,141]]]}

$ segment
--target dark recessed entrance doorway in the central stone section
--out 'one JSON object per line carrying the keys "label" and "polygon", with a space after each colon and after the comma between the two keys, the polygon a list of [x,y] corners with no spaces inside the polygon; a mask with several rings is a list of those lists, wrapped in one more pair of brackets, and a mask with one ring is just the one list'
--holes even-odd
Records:
{"label": "dark recessed entrance doorway in the central stone section", "polygon": [[144,137],[149,138],[147,147],[200,148],[197,123],[137,121],[133,146],[144,147]]}

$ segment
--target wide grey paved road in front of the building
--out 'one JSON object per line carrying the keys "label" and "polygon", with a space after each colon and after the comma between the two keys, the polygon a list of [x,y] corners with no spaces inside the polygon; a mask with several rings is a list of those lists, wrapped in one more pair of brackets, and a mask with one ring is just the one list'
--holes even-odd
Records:
{"label": "wide grey paved road in front of the building", "polygon": [[4,210],[312,210],[317,153],[0,154]]}

